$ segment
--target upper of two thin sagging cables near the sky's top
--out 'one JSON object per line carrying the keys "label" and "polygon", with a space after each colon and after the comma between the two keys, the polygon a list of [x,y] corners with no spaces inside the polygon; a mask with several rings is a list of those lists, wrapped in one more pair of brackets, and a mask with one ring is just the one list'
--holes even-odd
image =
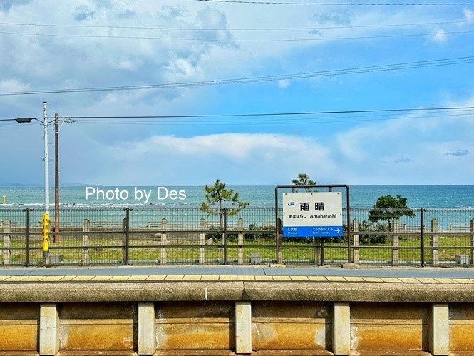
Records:
{"label": "upper of two thin sagging cables near the sky's top", "polygon": [[191,27],[155,27],[155,26],[92,26],[92,25],[68,25],[68,24],[21,24],[17,22],[0,22],[0,25],[7,26],[36,26],[36,27],[62,27],[76,29],[141,29],[141,30],[169,30],[169,31],[293,31],[293,30],[328,30],[328,29],[364,29],[379,27],[406,27],[406,26],[427,26],[445,24],[467,24],[474,20],[440,21],[440,22],[417,22],[410,24],[378,24],[378,25],[346,25],[346,26],[311,26],[311,27],[270,27],[270,28],[191,28]]}

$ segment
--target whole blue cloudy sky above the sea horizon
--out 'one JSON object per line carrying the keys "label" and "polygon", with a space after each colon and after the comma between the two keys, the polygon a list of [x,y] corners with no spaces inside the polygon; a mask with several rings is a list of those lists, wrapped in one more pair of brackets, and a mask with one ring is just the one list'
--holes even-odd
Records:
{"label": "whole blue cloudy sky above the sea horizon", "polygon": [[474,107],[474,1],[427,3],[0,0],[0,185],[43,101],[63,184],[472,185],[474,110],[426,109]]}

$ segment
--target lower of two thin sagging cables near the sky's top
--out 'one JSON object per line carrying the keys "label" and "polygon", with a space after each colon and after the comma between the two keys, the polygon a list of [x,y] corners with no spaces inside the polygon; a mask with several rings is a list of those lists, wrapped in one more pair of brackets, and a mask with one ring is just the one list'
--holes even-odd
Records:
{"label": "lower of two thin sagging cables near the sky's top", "polygon": [[[472,34],[474,31],[443,31],[443,34]],[[0,34],[11,34],[19,36],[40,36],[40,37],[57,37],[68,39],[153,39],[160,41],[198,41],[198,42],[215,42],[215,43],[275,43],[275,42],[304,42],[304,41],[334,41],[334,40],[351,40],[351,39],[390,39],[398,37],[419,37],[419,36],[435,36],[438,32],[425,34],[398,34],[398,35],[381,35],[381,36],[352,36],[352,37],[318,37],[306,39],[198,39],[190,37],[154,37],[154,36],[101,36],[101,35],[73,35],[73,34],[32,34],[29,32],[10,32],[0,31]]]}

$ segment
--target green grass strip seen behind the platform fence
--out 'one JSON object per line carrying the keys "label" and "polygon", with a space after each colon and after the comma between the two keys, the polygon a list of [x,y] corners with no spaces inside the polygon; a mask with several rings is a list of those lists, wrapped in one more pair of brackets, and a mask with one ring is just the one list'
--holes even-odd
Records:
{"label": "green grass strip seen behind the platform fence", "polygon": [[[166,246],[167,263],[199,263],[200,245],[198,233],[168,233],[168,245]],[[83,258],[83,233],[61,233],[61,242],[53,243],[51,234],[51,255],[62,255],[63,263],[80,264]],[[123,263],[124,254],[124,234],[114,233],[89,233],[88,255],[90,263]],[[11,235],[10,263],[26,263],[26,236]],[[430,237],[425,237],[425,260],[431,263]],[[470,235],[440,235],[439,238],[439,260],[455,261],[455,256],[459,254],[470,255]],[[2,246],[4,247],[4,245]],[[31,235],[30,240],[30,261],[40,263],[41,261],[41,236]],[[132,263],[159,263],[161,258],[161,241],[155,233],[130,233],[129,260]],[[220,239],[215,239],[212,245],[205,245],[205,263],[222,263],[223,249],[220,246]],[[4,249],[4,260],[8,250]],[[259,253],[262,262],[275,261],[276,249],[273,239],[263,239],[257,241],[247,240],[243,248],[244,263],[248,263],[252,253]],[[237,240],[230,240],[227,243],[227,261],[234,263],[237,261],[239,248]],[[282,259],[287,263],[314,263],[315,248],[313,239],[307,240],[284,240],[282,242]],[[417,237],[408,237],[400,240],[398,248],[399,260],[421,261],[420,240]],[[376,264],[391,263],[391,243],[377,245],[361,245],[359,248],[359,258],[361,261]],[[324,260],[345,261],[347,260],[347,246],[344,242],[325,242]]]}

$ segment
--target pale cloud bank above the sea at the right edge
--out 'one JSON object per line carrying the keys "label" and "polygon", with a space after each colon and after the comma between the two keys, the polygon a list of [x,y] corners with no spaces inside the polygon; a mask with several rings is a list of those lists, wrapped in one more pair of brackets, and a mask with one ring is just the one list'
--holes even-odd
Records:
{"label": "pale cloud bank above the sea at the right edge", "polygon": [[337,136],[334,159],[353,184],[469,184],[473,118],[409,113],[349,129]]}

